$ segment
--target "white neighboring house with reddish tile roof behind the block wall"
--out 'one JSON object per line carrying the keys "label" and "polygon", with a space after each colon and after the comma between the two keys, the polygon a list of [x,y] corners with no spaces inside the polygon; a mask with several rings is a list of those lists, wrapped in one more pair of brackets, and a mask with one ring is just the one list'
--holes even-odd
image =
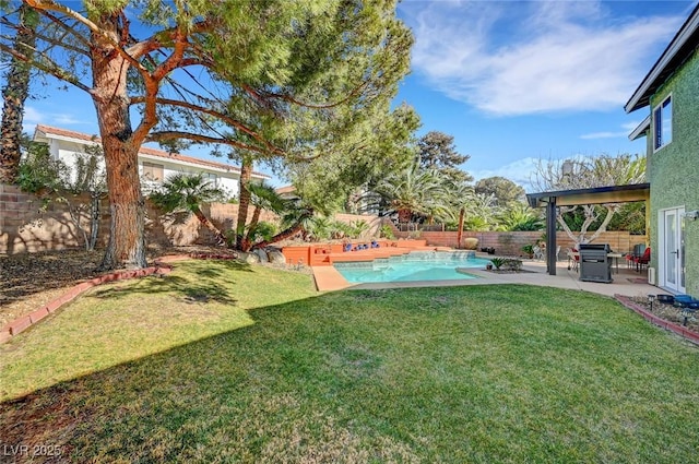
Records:
{"label": "white neighboring house with reddish tile roof behind the block wall", "polygon": [[[50,126],[37,124],[34,132],[36,142],[47,143],[51,157],[60,159],[68,166],[73,166],[76,154],[84,153],[85,146],[99,145],[98,136]],[[203,172],[215,186],[223,189],[229,197],[238,194],[240,168],[224,163],[186,156],[178,153],[167,153],[162,150],[142,146],[139,151],[139,172],[144,191],[157,189],[168,176],[178,172]],[[261,172],[252,174],[253,180],[270,179]]]}

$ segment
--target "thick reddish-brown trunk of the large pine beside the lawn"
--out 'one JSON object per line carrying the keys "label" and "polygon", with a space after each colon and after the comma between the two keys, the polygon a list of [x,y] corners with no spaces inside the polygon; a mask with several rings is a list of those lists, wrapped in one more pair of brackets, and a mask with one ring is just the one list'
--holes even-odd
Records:
{"label": "thick reddish-brown trunk of the large pine beside the lawn", "polygon": [[[118,20],[100,17],[100,28],[115,41],[121,39]],[[109,41],[93,35],[93,102],[107,165],[111,224],[102,270],[141,269],[145,257],[145,202],[139,179],[140,142],[134,142],[129,116],[127,71],[129,63]]]}

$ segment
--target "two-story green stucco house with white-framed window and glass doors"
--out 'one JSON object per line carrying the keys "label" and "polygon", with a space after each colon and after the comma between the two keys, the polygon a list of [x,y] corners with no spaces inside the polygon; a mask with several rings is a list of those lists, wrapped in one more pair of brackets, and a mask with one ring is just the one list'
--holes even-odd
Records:
{"label": "two-story green stucco house with white-framed window and glass doors", "polygon": [[648,117],[650,269],[668,292],[699,297],[699,5],[625,106]]}

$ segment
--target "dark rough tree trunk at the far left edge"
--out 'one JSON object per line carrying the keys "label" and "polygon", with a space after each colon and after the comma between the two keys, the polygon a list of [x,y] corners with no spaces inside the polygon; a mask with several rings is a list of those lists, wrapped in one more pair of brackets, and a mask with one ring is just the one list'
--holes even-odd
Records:
{"label": "dark rough tree trunk at the far left edge", "polygon": [[[20,7],[20,24],[13,47],[21,53],[32,57],[36,37],[36,23],[27,19],[32,9],[26,4]],[[20,140],[22,138],[22,120],[24,119],[24,102],[29,94],[29,71],[32,67],[25,61],[12,58],[7,73],[7,84],[2,90],[4,107],[2,109],[1,144],[0,144],[0,182],[14,183],[20,166]]]}

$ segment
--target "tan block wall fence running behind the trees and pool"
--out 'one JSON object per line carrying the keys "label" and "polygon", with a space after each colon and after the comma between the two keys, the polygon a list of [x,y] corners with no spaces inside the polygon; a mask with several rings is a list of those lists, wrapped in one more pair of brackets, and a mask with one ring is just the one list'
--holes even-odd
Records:
{"label": "tan block wall fence running behind the trees and pool", "polygon": [[[83,198],[83,201],[87,201]],[[42,201],[31,194],[22,192],[15,186],[0,183],[0,254],[21,252],[36,252],[80,248],[83,245],[80,231],[71,222],[67,206],[51,202],[46,212],[40,212]],[[100,204],[102,219],[99,224],[98,242],[104,246],[109,233],[109,203],[104,200]],[[158,246],[213,245],[214,237],[209,230],[200,226],[196,217],[163,217],[153,205],[146,201],[146,237],[149,243]],[[204,206],[204,214],[222,229],[230,229],[238,217],[238,205],[229,203],[213,203]],[[252,215],[252,211],[249,212]],[[367,237],[376,236],[381,224],[391,224],[377,216],[337,214],[335,219],[345,223],[364,221],[369,225]],[[277,217],[263,212],[261,221],[276,223]],[[84,218],[87,225],[87,218]],[[410,238],[414,233],[400,233],[394,229],[396,238]],[[478,239],[479,248],[495,248],[496,254],[523,255],[521,248],[528,243],[535,243],[542,237],[542,231],[464,231],[463,237]],[[420,239],[427,240],[429,246],[457,247],[455,231],[422,231]],[[556,236],[561,247],[561,255],[573,246],[565,233]],[[609,243],[617,252],[627,252],[636,243],[644,243],[645,236],[629,235],[626,231],[607,231],[595,240],[597,243]]]}

